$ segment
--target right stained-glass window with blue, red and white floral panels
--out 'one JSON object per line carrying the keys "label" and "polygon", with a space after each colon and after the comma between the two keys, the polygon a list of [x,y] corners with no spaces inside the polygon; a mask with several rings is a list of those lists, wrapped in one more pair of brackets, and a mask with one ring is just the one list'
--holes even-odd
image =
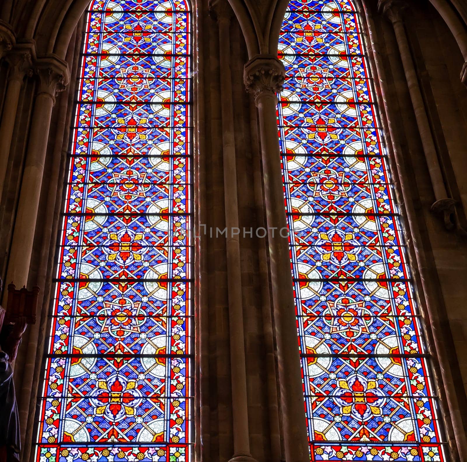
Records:
{"label": "right stained-glass window with blue, red and white floral panels", "polygon": [[351,0],[291,0],[278,128],[312,461],[446,461]]}

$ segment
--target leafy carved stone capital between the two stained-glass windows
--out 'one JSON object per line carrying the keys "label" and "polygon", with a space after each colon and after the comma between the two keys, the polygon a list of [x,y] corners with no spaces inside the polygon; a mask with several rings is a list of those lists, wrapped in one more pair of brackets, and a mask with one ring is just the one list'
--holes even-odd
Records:
{"label": "leafy carved stone capital between the two stained-glass windows", "polygon": [[285,68],[273,55],[257,55],[243,71],[243,81],[248,93],[258,98],[264,93],[280,93],[283,90]]}

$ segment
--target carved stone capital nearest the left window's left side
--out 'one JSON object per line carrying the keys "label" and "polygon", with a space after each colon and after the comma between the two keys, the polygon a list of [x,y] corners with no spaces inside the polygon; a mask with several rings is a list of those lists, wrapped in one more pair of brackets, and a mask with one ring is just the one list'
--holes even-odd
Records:
{"label": "carved stone capital nearest the left window's left side", "polygon": [[70,81],[68,64],[55,56],[39,58],[35,66],[35,73],[39,77],[37,95],[50,96],[55,104],[55,97],[59,92],[64,91]]}

